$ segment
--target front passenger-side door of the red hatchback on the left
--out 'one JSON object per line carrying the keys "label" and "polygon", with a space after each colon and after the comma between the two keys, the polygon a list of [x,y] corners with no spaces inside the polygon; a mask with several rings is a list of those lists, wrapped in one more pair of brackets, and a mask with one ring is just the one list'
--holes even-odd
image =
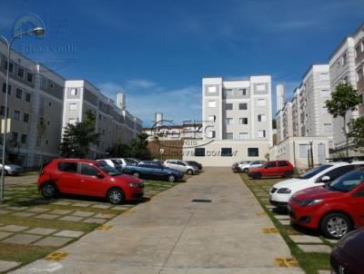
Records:
{"label": "front passenger-side door of the red hatchback on the left", "polygon": [[103,173],[89,163],[80,163],[79,194],[90,196],[102,196],[106,191],[106,177],[99,178],[96,175]]}

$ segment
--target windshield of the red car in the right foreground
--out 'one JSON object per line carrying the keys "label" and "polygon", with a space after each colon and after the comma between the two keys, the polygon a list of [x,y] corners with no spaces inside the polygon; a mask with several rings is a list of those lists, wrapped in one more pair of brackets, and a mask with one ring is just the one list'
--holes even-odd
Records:
{"label": "windshield of the red car in the right foreground", "polygon": [[341,192],[349,192],[355,189],[360,182],[364,181],[364,170],[360,171],[351,171],[337,180],[329,183],[327,188],[330,191],[341,191]]}

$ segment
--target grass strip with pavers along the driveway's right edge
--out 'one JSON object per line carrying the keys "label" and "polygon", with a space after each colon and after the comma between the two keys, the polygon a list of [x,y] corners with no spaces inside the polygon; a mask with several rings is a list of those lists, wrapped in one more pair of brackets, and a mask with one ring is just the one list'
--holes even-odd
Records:
{"label": "grass strip with pavers along the driveway's right edge", "polygon": [[[327,253],[306,253],[298,248],[298,245],[289,238],[289,235],[299,235],[308,233],[311,236],[318,236],[320,239],[330,247],[334,244],[320,236],[318,232],[312,230],[295,229],[290,225],[282,225],[274,216],[278,214],[287,214],[287,212],[272,211],[267,208],[269,202],[269,189],[278,181],[285,179],[282,178],[269,178],[263,180],[252,180],[247,174],[240,174],[242,181],[244,181],[250,191],[252,191],[259,201],[262,208],[266,211],[269,218],[273,221],[274,225],[282,235],[283,239],[287,242],[292,256],[298,260],[299,266],[308,274],[318,274],[319,270],[329,269],[329,254]],[[264,194],[261,194],[264,193]],[[317,233],[317,234],[316,234]]]}

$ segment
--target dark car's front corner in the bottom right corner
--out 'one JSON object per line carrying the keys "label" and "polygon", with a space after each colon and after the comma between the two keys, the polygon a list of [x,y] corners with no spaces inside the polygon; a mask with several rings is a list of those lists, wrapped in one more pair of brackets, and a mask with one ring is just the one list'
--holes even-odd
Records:
{"label": "dark car's front corner in the bottom right corner", "polygon": [[354,230],[339,240],[331,252],[331,273],[361,274],[364,269],[364,230]]}

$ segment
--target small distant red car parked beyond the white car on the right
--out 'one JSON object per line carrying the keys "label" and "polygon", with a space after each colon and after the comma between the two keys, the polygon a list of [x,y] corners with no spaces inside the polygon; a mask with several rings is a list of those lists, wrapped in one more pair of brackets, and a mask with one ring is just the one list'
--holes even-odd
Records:
{"label": "small distant red car parked beyond the white car on the right", "polygon": [[286,160],[282,161],[266,161],[261,167],[250,168],[248,176],[253,179],[260,179],[262,177],[284,176],[286,178],[292,177],[293,165]]}

